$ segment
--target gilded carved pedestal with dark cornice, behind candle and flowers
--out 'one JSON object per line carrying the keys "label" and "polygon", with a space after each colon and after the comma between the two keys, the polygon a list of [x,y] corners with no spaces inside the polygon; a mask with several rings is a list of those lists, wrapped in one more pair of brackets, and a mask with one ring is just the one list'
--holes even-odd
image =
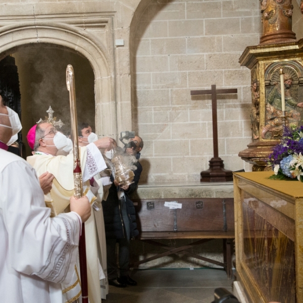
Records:
{"label": "gilded carved pedestal with dark cornice, behind candle and flowers", "polygon": [[303,39],[287,43],[246,47],[240,58],[250,69],[251,143],[239,157],[253,164],[253,171],[271,170],[268,156],[281,139],[280,69],[283,71],[286,125],[303,125]]}

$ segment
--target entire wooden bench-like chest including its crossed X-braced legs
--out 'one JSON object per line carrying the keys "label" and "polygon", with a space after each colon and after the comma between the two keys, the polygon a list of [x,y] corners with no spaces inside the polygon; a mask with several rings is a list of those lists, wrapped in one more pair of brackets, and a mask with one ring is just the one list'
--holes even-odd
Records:
{"label": "entire wooden bench-like chest including its crossed X-braced legs", "polygon": [[[169,209],[165,202],[177,201],[181,209]],[[156,245],[167,251],[131,264],[140,264],[182,252],[188,257],[222,266],[232,278],[232,249],[234,233],[233,198],[181,198],[133,200],[140,231],[137,240]],[[194,242],[172,247],[159,239],[192,239]],[[212,239],[223,239],[223,263],[187,251]]]}

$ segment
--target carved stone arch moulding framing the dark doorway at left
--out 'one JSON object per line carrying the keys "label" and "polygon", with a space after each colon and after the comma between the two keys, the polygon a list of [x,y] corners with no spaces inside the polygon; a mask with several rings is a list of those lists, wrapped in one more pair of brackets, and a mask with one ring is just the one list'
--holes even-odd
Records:
{"label": "carved stone arch moulding framing the dark doorway at left", "polygon": [[54,21],[18,22],[0,28],[0,58],[18,46],[30,43],[61,45],[87,58],[95,76],[96,132],[116,134],[114,62],[102,42],[84,29]]}

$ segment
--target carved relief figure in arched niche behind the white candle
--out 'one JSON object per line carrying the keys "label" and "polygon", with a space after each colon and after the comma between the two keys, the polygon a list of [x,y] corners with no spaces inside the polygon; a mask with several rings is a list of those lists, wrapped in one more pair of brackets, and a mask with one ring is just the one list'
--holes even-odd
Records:
{"label": "carved relief figure in arched niche behind the white candle", "polygon": [[[299,121],[301,121],[300,108],[303,108],[303,102],[298,101],[298,85],[293,85],[293,81],[297,80],[298,76],[290,67],[284,67],[284,70],[287,71],[283,75],[286,124],[298,126]],[[278,73],[279,71],[276,69],[272,75],[272,80],[277,80]],[[273,85],[266,95],[265,126],[261,134],[263,139],[278,139],[283,134],[281,83],[273,81]]]}

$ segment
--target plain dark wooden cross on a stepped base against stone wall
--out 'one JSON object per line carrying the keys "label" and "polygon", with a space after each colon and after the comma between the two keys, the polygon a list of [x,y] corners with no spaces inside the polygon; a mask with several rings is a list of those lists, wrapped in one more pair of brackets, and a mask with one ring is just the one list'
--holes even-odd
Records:
{"label": "plain dark wooden cross on a stepped base against stone wall", "polygon": [[190,95],[212,95],[212,113],[213,113],[213,145],[214,157],[209,161],[210,168],[200,173],[201,182],[226,182],[232,181],[232,171],[224,169],[223,160],[219,158],[218,151],[218,122],[217,122],[217,94],[237,93],[237,88],[216,89],[216,85],[212,85],[212,89],[191,90]]}

